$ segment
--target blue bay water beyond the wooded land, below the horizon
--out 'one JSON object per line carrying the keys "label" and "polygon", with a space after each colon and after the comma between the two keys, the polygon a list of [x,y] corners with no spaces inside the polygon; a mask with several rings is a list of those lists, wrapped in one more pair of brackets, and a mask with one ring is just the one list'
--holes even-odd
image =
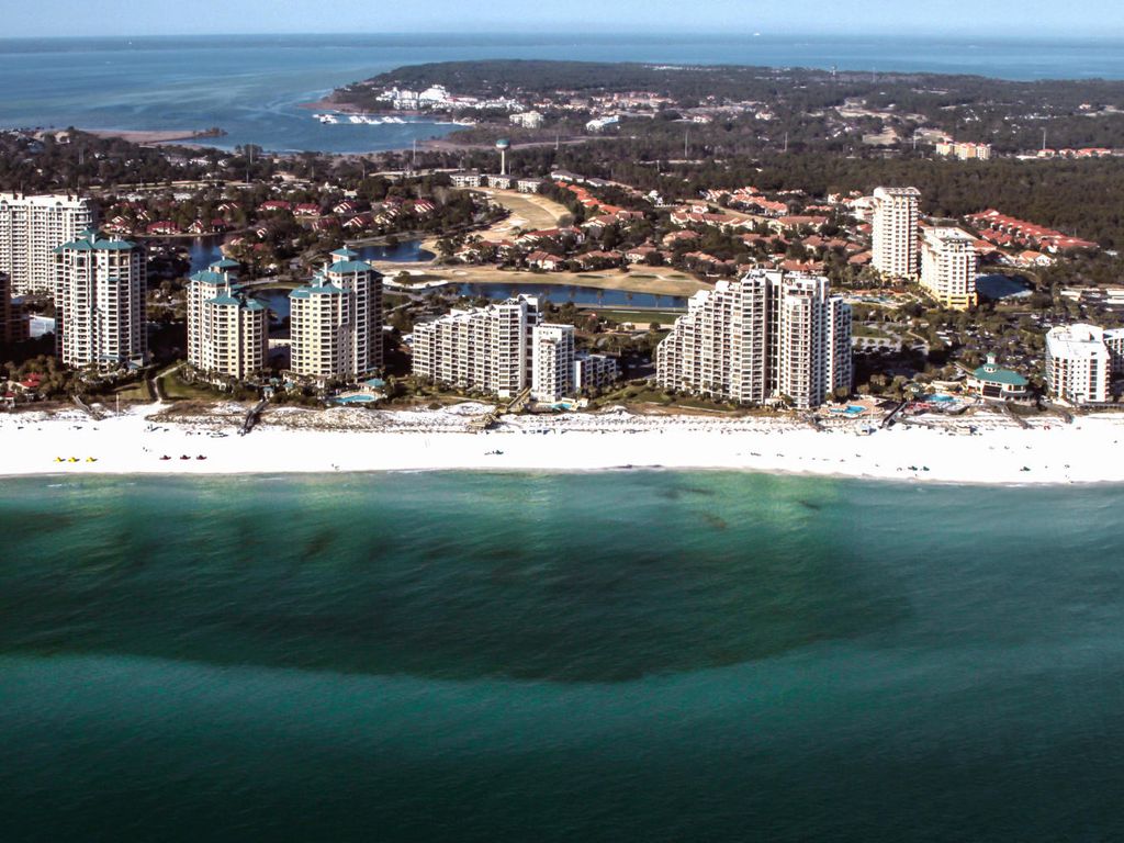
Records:
{"label": "blue bay water beyond the wooded land, below the horizon", "polygon": [[1124,79],[1120,39],[572,35],[196,36],[0,39],[0,128],[201,129],[278,152],[407,148],[455,127],[330,126],[300,108],[405,64],[556,58],[754,64],[1003,79]]}

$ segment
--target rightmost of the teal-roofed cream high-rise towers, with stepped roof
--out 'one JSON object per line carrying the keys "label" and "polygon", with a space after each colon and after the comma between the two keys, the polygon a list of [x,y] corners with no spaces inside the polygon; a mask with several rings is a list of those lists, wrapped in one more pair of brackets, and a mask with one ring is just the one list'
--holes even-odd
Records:
{"label": "rightmost of the teal-roofed cream high-rise towers, with stepped roof", "polygon": [[355,381],[382,369],[382,274],[348,248],[289,296],[294,374]]}

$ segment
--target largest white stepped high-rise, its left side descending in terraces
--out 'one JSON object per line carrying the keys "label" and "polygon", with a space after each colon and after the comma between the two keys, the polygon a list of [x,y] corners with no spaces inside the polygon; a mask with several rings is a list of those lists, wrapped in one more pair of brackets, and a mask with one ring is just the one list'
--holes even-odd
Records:
{"label": "largest white stepped high-rise, its left side descending in terraces", "polygon": [[851,387],[851,309],[826,278],[753,270],[695,293],[655,363],[664,389],[817,407]]}

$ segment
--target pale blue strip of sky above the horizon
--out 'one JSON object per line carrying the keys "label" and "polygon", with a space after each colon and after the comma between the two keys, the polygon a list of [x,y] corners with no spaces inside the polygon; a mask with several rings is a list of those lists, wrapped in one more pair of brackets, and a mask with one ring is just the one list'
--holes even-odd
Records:
{"label": "pale blue strip of sky above the horizon", "polygon": [[[274,33],[991,33],[1124,37],[1121,0],[0,0],[0,37]],[[562,29],[561,31],[564,31]]]}

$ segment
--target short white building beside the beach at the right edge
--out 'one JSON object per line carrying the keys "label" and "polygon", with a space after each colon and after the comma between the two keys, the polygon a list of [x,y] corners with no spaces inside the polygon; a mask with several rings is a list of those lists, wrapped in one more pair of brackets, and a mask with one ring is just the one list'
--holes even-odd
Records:
{"label": "short white building beside the beach at the right edge", "polygon": [[1114,372],[1124,369],[1124,329],[1067,325],[1046,334],[1046,386],[1076,406],[1112,400]]}

